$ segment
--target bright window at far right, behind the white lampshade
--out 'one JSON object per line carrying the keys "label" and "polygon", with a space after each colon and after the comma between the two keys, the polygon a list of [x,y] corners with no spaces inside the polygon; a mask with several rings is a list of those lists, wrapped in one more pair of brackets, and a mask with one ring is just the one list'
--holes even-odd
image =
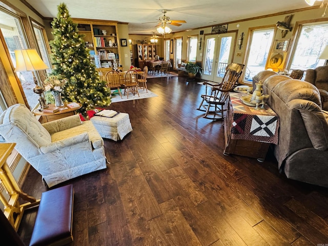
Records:
{"label": "bright window at far right, behind the white lampshade", "polygon": [[324,65],[324,59],[318,59],[328,45],[328,23],[303,25],[300,28],[291,69],[306,70]]}

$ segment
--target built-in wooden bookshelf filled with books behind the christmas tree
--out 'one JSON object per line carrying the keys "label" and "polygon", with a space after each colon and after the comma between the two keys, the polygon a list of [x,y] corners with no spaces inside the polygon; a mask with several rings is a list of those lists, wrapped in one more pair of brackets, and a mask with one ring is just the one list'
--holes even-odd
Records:
{"label": "built-in wooden bookshelf filled with books behind the christmas tree", "polygon": [[86,47],[90,50],[90,59],[98,69],[120,65],[120,44],[117,36],[117,22],[95,19],[77,19],[78,31],[84,34]]}

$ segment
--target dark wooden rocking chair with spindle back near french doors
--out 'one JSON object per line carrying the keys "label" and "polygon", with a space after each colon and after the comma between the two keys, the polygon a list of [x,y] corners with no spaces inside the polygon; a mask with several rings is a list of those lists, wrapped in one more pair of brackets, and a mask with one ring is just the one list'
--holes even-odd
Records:
{"label": "dark wooden rocking chair with spindle back near french doors", "polygon": [[[197,110],[206,112],[203,116],[207,119],[223,119],[223,106],[229,98],[229,92],[234,88],[238,79],[242,74],[243,64],[232,63],[227,66],[226,73],[219,85],[214,85],[208,81],[204,81],[206,85],[206,94],[201,95],[202,101]],[[208,94],[208,86],[212,86]],[[213,109],[213,110],[212,110]],[[212,115],[212,116],[209,116]],[[218,117],[218,115],[220,117]]]}

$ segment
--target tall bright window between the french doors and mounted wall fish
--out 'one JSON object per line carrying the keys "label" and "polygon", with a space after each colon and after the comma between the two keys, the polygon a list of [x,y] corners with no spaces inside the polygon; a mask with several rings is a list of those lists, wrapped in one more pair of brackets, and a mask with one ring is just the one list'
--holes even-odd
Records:
{"label": "tall bright window between the french doors and mounted wall fish", "polygon": [[251,33],[251,43],[244,69],[244,80],[252,78],[260,71],[265,70],[270,47],[273,42],[274,28],[256,29]]}

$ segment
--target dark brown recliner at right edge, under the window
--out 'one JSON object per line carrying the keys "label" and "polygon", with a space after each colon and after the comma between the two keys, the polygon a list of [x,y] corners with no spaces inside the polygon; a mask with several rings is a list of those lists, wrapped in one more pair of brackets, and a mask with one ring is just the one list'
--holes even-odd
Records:
{"label": "dark brown recliner at right edge, under the window", "polygon": [[304,81],[319,89],[322,109],[328,111],[328,66],[306,70]]}

